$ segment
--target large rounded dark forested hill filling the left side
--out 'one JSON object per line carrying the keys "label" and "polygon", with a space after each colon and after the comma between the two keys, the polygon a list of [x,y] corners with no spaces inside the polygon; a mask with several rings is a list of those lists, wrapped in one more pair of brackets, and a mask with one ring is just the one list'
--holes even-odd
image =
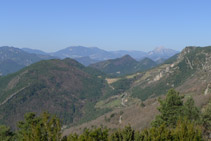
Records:
{"label": "large rounded dark forested hill filling the left side", "polygon": [[75,60],[41,61],[0,78],[0,122],[15,127],[26,112],[49,111],[64,124],[90,120],[106,86],[104,74]]}

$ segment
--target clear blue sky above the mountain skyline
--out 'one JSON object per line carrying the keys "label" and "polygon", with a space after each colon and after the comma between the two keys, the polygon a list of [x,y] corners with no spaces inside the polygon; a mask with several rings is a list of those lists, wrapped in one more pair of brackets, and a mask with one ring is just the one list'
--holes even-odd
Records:
{"label": "clear blue sky above the mountain skyline", "polygon": [[0,0],[0,46],[149,51],[211,45],[211,0]]}

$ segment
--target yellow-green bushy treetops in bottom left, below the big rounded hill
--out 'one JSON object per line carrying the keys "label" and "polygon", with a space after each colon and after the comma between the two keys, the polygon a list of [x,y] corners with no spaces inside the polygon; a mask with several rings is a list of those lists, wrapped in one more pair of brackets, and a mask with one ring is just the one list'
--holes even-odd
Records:
{"label": "yellow-green bushy treetops in bottom left, below the big rounded hill", "polygon": [[61,123],[55,116],[43,113],[37,117],[34,113],[28,113],[24,118],[24,121],[18,123],[18,140],[59,141],[61,139]]}

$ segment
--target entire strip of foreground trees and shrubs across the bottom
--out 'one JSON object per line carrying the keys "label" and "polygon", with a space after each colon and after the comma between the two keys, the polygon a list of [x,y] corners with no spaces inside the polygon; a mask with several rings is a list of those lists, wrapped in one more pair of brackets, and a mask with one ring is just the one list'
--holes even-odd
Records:
{"label": "entire strip of foreground trees and shrubs across the bottom", "polygon": [[[185,101],[185,102],[184,102]],[[200,111],[192,98],[183,100],[171,89],[164,100],[159,100],[160,114],[149,129],[135,131],[130,126],[111,130],[104,127],[84,129],[82,134],[62,137],[61,122],[55,116],[43,113],[25,115],[18,123],[18,130],[12,132],[0,126],[0,140],[24,141],[140,141],[140,140],[206,140],[211,133],[211,102]]]}

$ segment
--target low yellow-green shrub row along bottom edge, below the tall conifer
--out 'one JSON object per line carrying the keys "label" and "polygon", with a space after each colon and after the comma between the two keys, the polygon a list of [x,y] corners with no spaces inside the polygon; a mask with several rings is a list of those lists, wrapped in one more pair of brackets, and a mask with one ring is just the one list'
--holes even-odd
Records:
{"label": "low yellow-green shrub row along bottom edge, below the tall conifer", "polygon": [[85,129],[80,135],[70,134],[65,141],[202,141],[201,128],[189,120],[178,121],[174,128],[165,124],[151,127],[142,132],[135,131],[131,126],[126,126],[117,131],[105,128]]}

